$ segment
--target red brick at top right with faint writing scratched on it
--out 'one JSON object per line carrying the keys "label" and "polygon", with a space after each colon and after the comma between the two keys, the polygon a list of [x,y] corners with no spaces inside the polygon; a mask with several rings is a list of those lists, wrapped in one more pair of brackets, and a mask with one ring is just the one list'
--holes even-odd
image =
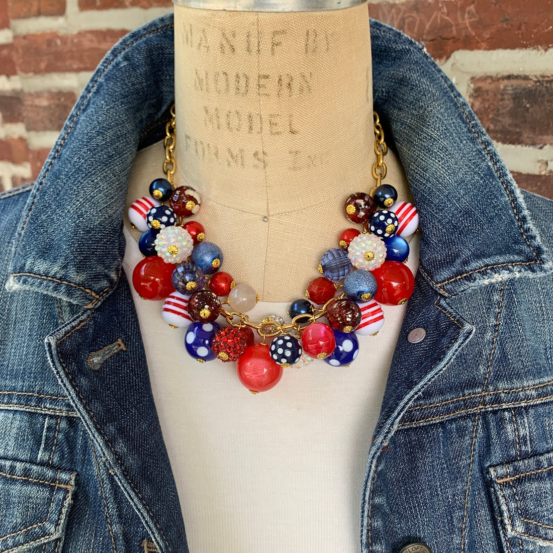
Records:
{"label": "red brick at top right with faint writing scratched on it", "polygon": [[553,0],[407,0],[368,6],[371,17],[421,41],[438,60],[459,49],[553,46]]}

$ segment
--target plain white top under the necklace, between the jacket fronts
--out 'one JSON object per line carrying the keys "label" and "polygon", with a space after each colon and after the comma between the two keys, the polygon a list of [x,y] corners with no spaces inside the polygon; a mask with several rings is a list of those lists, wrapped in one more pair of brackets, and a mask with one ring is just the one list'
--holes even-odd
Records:
{"label": "plain white top under the necklace, between the jacket fronts", "polygon": [[[124,233],[130,280],[142,254]],[[416,233],[409,244],[413,273],[419,241]],[[189,356],[185,330],[161,318],[163,301],[132,292],[191,553],[359,551],[367,454],[406,304],[383,306],[382,330],[358,336],[350,367],[284,369],[254,395],[236,363]],[[289,321],[288,306],[259,302],[248,315]]]}

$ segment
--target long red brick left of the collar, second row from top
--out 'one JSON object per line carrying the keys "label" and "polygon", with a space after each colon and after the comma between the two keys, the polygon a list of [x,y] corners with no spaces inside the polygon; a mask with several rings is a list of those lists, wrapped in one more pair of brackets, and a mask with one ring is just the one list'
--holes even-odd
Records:
{"label": "long red brick left of the collar, second row from top", "polygon": [[14,36],[15,60],[20,72],[92,71],[126,30],[82,31]]}

